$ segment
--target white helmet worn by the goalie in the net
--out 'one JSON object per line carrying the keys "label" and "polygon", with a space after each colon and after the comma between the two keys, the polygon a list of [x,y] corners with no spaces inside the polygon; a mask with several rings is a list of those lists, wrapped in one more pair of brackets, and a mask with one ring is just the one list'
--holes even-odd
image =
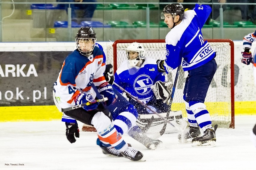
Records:
{"label": "white helmet worn by the goalie in the net", "polygon": [[[129,56],[130,52],[135,52],[133,56]],[[131,43],[126,50],[127,59],[129,61],[130,67],[136,66],[139,62],[142,64],[142,60],[145,58],[145,49],[138,42]],[[132,58],[131,58],[132,57]]]}

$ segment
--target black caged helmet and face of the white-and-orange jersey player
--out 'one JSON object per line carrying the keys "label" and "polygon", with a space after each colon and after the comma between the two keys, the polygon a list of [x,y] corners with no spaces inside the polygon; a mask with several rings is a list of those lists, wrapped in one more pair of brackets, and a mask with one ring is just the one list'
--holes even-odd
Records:
{"label": "black caged helmet and face of the white-and-orange jersey player", "polygon": [[76,34],[75,40],[78,51],[82,55],[89,57],[95,47],[96,32],[92,27],[81,27]]}

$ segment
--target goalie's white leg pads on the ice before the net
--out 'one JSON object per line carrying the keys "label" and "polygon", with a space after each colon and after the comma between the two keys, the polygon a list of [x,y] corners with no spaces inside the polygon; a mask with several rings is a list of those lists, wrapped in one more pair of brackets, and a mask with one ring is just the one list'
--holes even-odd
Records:
{"label": "goalie's white leg pads on the ice before the net", "polygon": [[[161,116],[166,117],[166,113],[159,113]],[[155,139],[158,136],[159,131],[163,128],[165,121],[156,114],[139,114],[136,124],[143,129],[149,122],[151,122],[152,116],[154,117],[150,128],[145,132],[148,137]],[[168,121],[175,121],[177,124],[181,124],[184,120],[182,119],[182,111],[170,111]],[[178,132],[177,128],[173,127],[169,123],[166,126],[165,133]]]}

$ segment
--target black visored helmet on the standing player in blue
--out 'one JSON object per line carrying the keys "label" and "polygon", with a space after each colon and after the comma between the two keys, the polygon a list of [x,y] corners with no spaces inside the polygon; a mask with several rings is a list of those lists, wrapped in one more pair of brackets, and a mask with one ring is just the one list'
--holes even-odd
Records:
{"label": "black visored helmet on the standing player in blue", "polygon": [[172,17],[179,15],[180,19],[184,16],[184,7],[180,3],[172,3],[169,5],[166,5],[163,8],[163,13],[161,13],[161,19],[165,19],[164,14],[170,14]]}

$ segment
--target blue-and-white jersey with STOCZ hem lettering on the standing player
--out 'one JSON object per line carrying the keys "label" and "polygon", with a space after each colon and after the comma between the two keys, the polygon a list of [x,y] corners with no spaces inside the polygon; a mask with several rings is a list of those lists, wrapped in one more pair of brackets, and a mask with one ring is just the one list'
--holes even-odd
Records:
{"label": "blue-and-white jersey with STOCZ hem lettering on the standing player", "polygon": [[166,35],[166,72],[177,68],[182,61],[184,71],[202,66],[215,57],[215,51],[203,40],[201,28],[212,9],[209,5],[196,4],[193,10],[184,12],[180,24]]}

